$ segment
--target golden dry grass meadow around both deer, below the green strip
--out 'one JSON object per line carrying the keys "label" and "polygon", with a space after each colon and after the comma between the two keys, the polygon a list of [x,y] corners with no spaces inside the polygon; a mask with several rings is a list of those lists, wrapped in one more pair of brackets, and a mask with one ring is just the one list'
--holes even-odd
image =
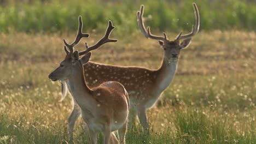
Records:
{"label": "golden dry grass meadow around both deer, below the green strip", "polygon": [[[62,38],[74,35],[0,35],[0,143],[68,143],[71,99],[58,102],[60,82],[51,82],[48,74],[64,58]],[[113,32],[112,38],[117,35]],[[91,33],[86,41],[92,45],[101,36]],[[158,42],[131,36],[95,50],[92,61],[158,68]],[[174,81],[147,112],[150,134],[137,124],[127,131],[126,142],[256,143],[255,39],[255,32],[235,30],[197,34],[181,53]],[[89,143],[81,126],[80,119],[74,141]]]}

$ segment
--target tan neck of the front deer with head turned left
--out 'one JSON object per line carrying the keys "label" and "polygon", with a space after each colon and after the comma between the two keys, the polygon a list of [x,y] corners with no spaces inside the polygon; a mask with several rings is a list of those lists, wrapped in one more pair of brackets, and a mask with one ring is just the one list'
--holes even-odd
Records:
{"label": "tan neck of the front deer with head turned left", "polygon": [[96,100],[92,97],[92,90],[86,85],[83,73],[83,65],[79,63],[79,69],[74,69],[68,79],[68,87],[80,108],[92,110]]}

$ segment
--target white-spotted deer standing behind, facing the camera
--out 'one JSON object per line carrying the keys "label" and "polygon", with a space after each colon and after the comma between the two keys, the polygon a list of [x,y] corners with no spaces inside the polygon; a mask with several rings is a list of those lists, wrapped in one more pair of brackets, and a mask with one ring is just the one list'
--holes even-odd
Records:
{"label": "white-spotted deer standing behind, facing the camera", "polygon": [[[165,33],[164,37],[153,35],[150,27],[147,29],[143,22],[144,5],[137,11],[137,22],[141,33],[146,38],[159,40],[160,47],[164,50],[161,65],[158,69],[143,67],[123,67],[120,65],[88,62],[84,65],[84,73],[87,85],[96,87],[104,81],[118,81],[126,88],[130,99],[129,123],[135,123],[136,116],[144,130],[149,128],[147,110],[153,107],[162,92],[170,85],[176,74],[181,50],[187,48],[192,37],[199,32],[199,10],[193,3],[195,13],[195,26],[190,33],[182,35],[182,31],[174,40],[169,40]],[[184,39],[181,43],[180,40]],[[86,50],[85,50],[86,51]],[[83,53],[81,53],[83,54]],[[79,53],[80,55],[80,53]],[[114,75],[110,75],[114,74]],[[67,83],[62,81],[62,98],[65,99],[69,89]],[[75,122],[80,116],[80,110],[75,104],[68,117],[69,136],[72,138]],[[130,125],[130,124],[129,124]],[[132,124],[131,124],[132,125]]]}

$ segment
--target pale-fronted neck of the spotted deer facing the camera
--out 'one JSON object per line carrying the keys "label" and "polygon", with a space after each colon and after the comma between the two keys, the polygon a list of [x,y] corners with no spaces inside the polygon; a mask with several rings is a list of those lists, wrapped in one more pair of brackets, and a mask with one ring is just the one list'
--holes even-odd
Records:
{"label": "pale-fronted neck of the spotted deer facing the camera", "polygon": [[156,77],[158,92],[164,91],[172,82],[177,70],[178,59],[163,58],[161,67],[157,70],[158,76]]}

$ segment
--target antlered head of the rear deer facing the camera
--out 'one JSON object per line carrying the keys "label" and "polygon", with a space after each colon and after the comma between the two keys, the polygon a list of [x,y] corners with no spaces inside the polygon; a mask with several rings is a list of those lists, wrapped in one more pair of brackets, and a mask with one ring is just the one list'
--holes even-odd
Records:
{"label": "antlered head of the rear deer facing the camera", "polygon": [[[169,40],[167,38],[167,35],[165,34],[165,32],[163,33],[164,37],[160,37],[158,35],[153,35],[150,32],[150,27],[148,27],[146,30],[146,28],[144,26],[144,22],[143,22],[144,5],[141,5],[141,10],[137,11],[138,26],[139,26],[139,29],[141,30],[142,34],[146,38],[159,40],[160,46],[165,51],[164,58],[168,62],[172,61],[173,59],[178,59],[180,51],[189,46],[189,44],[191,43],[192,37],[195,34],[197,34],[197,32],[199,31],[199,23],[200,23],[199,10],[195,3],[193,3],[193,6],[194,6],[194,10],[195,10],[196,22],[195,22],[195,26],[193,26],[193,28],[192,28],[192,32],[190,32],[189,34],[184,34],[184,35],[182,35],[182,32],[180,32],[174,40]],[[184,40],[180,43],[181,39],[184,39]]]}

